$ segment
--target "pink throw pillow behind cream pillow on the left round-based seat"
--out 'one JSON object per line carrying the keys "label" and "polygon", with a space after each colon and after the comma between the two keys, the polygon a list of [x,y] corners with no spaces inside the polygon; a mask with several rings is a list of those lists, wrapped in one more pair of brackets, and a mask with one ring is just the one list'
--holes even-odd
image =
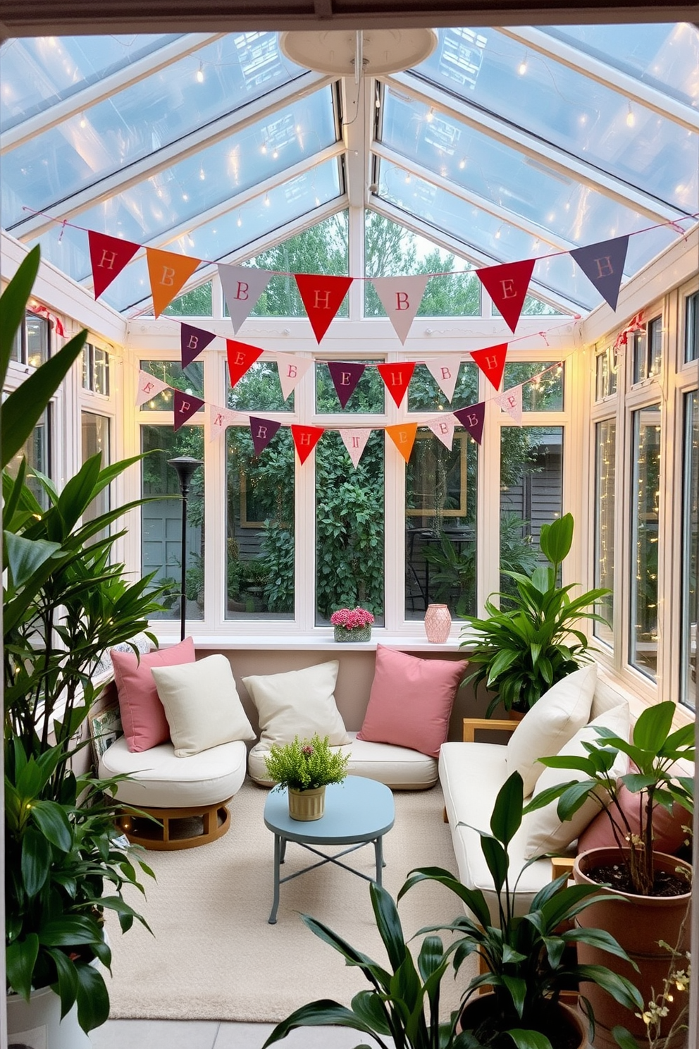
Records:
{"label": "pink throw pillow behind cream pillow on the left round-based seat", "polygon": [[122,726],[129,750],[141,751],[170,740],[170,725],[158,698],[152,666],[194,663],[194,641],[184,638],[171,648],[156,649],[136,658],[134,652],[110,652],[118,692]]}

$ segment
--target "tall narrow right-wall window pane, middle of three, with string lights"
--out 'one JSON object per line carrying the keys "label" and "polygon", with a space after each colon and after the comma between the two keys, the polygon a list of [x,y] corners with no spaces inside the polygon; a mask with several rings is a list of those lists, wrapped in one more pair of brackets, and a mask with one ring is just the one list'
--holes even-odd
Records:
{"label": "tall narrow right-wall window pane, middle of three, with string lights", "polygon": [[631,638],[629,662],[656,678],[660,405],[632,414]]}

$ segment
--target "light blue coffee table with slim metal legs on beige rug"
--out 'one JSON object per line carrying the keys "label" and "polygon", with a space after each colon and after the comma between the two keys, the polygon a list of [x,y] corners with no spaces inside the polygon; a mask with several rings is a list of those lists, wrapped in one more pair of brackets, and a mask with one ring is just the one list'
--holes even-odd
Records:
{"label": "light blue coffee table with slim metal legs on beige rug", "polygon": [[[277,921],[279,907],[279,886],[298,878],[308,871],[314,871],[324,863],[335,863],[358,878],[381,883],[384,866],[384,835],[391,830],[395,819],[393,794],[384,784],[365,776],[347,776],[342,784],[330,784],[325,791],[325,812],[320,819],[309,821],[291,819],[286,790],[272,790],[264,804],[264,825],[275,835],[275,898],[269,915],[269,924]],[[287,841],[296,841],[308,852],[322,858],[318,863],[305,866],[303,871],[280,878],[280,866],[284,862]],[[376,858],[376,877],[370,878],[355,871],[340,857],[362,849],[373,841]],[[318,845],[349,845],[333,856],[321,852]]]}

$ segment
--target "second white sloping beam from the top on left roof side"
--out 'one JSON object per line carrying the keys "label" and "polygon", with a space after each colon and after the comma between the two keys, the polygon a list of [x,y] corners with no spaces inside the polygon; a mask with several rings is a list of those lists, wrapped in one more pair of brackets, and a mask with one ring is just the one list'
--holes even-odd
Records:
{"label": "second white sloping beam from the top on left roof side", "polygon": [[[101,178],[93,186],[73,193],[65,200],[46,205],[43,211],[49,212],[54,220],[70,219],[74,215],[87,211],[88,208],[145,181],[188,156],[199,153],[206,147],[227,138],[236,131],[241,131],[258,121],[271,116],[278,109],[288,106],[298,98],[311,94],[331,83],[333,83],[332,77],[315,72],[305,73],[293,82],[292,99],[289,98],[290,86],[288,84],[278,87],[262,99],[256,99],[247,105],[241,106],[235,112],[226,113],[205,127],[197,128],[190,134],[183,135],[170,145],[163,146],[162,149],[129,165],[128,168],[114,171],[111,175]],[[15,222],[8,229],[18,239],[27,241],[42,236],[54,224],[54,221],[47,219],[44,215],[31,215],[29,218]]]}

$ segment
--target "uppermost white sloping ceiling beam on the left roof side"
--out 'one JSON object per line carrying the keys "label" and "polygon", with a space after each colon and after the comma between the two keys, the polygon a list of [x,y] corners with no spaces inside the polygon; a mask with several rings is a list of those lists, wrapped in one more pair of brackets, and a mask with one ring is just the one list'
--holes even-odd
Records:
{"label": "uppermost white sloping ceiling beam on the left roof side", "polygon": [[137,84],[139,81],[152,77],[160,69],[172,65],[173,62],[187,58],[188,55],[198,51],[224,36],[224,33],[187,34],[178,40],[166,44],[165,47],[144,56],[136,62],[124,66],[117,72],[101,78],[94,84],[84,87],[62,102],[57,102],[56,105],[49,106],[41,113],[36,113],[5,131],[0,136],[0,155],[8,153],[9,150],[16,149],[18,146],[23,146],[36,135],[57,127],[64,121],[70,120],[71,116],[77,116],[91,106],[96,106],[105,99],[111,99],[118,91],[124,91],[132,84]]}

